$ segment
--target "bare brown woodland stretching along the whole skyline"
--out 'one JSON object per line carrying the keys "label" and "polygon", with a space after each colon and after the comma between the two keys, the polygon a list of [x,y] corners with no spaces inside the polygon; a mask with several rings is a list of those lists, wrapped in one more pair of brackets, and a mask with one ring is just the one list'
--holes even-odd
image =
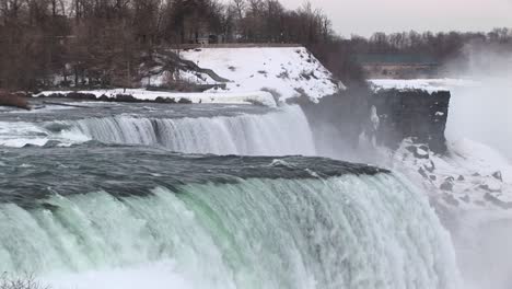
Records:
{"label": "bare brown woodland stretching along the whole skyline", "polygon": [[[131,86],[140,65],[159,49],[205,42],[301,44],[351,83],[364,79],[359,54],[414,53],[444,61],[469,43],[510,46],[512,30],[342,38],[309,2],[288,10],[278,0],[3,0],[0,89]],[[62,79],[56,83],[55,76]]]}

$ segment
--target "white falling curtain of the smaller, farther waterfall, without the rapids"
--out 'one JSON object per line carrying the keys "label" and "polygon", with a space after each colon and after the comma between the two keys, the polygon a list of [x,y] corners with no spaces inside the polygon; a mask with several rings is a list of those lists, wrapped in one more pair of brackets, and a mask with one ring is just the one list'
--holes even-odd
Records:
{"label": "white falling curtain of the smaller, farther waterfall, without the rapids", "polygon": [[161,146],[185,153],[316,154],[310,125],[299,106],[266,115],[176,119],[121,115],[67,124],[94,140]]}

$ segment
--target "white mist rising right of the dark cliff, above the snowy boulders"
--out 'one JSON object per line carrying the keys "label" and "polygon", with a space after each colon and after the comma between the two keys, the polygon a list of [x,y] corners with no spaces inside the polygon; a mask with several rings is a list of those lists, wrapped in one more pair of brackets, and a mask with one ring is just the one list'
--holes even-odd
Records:
{"label": "white mist rising right of the dark cliff, above the snowy boulders", "polygon": [[481,142],[511,161],[512,53],[474,44],[466,46],[464,55],[463,61],[452,62],[450,74],[476,84],[452,90],[446,137]]}

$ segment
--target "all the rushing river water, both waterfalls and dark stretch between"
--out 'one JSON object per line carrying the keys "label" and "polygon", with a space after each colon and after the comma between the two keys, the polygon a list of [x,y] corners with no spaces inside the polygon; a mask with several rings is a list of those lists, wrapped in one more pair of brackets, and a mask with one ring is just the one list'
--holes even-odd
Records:
{"label": "all the rushing river water, both waterfalls and dark stretch between", "polygon": [[84,289],[458,288],[447,232],[388,171],[183,154],[314,155],[299,107],[72,112],[0,117],[1,271]]}

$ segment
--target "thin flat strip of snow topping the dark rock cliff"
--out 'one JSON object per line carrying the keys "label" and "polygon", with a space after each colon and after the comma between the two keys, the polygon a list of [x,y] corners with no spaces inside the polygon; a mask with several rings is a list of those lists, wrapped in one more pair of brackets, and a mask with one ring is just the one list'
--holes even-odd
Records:
{"label": "thin flat strip of snow topping the dark rock cliff", "polygon": [[372,79],[369,83],[375,92],[396,89],[399,91],[423,90],[429,93],[480,85],[479,82],[467,79]]}

